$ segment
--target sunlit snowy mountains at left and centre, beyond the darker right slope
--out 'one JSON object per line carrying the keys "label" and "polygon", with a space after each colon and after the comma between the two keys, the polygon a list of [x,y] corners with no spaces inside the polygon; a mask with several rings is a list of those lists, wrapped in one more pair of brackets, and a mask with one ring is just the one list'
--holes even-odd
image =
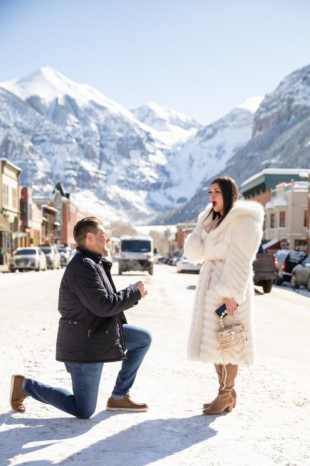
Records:
{"label": "sunlit snowy mountains at left and centre, beyond the darker right slope", "polygon": [[44,67],[0,82],[0,155],[37,194],[60,181],[87,213],[146,223],[181,206],[244,147],[261,100],[204,127],[152,102],[127,110]]}

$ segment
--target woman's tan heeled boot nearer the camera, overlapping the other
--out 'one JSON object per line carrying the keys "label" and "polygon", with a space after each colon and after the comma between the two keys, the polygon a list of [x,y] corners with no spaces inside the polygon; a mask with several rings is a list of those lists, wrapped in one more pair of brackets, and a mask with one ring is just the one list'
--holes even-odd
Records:
{"label": "woman's tan heeled boot nearer the camera, overlapping the other", "polygon": [[[223,371],[225,376],[224,366]],[[202,411],[203,414],[221,414],[223,411],[231,412],[233,406],[231,391],[235,384],[235,378],[237,377],[238,366],[235,364],[226,364],[226,371],[226,380],[225,377],[222,376],[217,398],[209,408]]]}

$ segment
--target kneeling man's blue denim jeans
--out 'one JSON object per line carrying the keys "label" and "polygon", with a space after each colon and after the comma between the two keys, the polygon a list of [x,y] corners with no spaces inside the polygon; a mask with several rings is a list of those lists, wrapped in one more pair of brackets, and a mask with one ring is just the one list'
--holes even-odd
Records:
{"label": "kneeling man's blue denim jeans", "polygon": [[[129,394],[129,389],[152,341],[152,335],[148,330],[128,324],[123,326],[123,330],[127,359],[122,362],[112,392],[121,397]],[[96,409],[103,363],[65,363],[65,366],[71,374],[73,394],[30,378],[26,380],[24,392],[28,397],[52,404],[77,418],[88,419]]]}

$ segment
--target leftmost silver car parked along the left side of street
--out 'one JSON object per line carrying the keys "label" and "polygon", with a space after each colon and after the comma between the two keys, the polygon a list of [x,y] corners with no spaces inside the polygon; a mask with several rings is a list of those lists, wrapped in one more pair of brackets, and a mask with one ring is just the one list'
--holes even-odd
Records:
{"label": "leftmost silver car parked along the left side of street", "polygon": [[46,257],[40,247],[18,247],[9,262],[11,272],[15,270],[46,270]]}

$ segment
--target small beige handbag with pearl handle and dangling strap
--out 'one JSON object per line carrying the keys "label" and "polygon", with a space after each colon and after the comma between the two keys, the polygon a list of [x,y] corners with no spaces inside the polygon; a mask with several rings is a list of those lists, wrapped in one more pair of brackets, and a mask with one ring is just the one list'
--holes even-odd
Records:
{"label": "small beige handbag with pearl handle and dangling strap", "polygon": [[[245,345],[245,342],[248,340],[242,323],[237,322],[237,315],[235,315],[234,323],[230,327],[224,326],[223,317],[226,314],[227,314],[227,311],[225,310],[220,315],[221,329],[217,331],[219,349],[221,350],[221,353],[223,356],[224,369],[225,369],[224,386],[222,390],[224,390],[224,388],[226,387],[226,377],[227,377],[227,370],[226,370],[226,364],[224,360],[223,351],[228,351],[229,349],[233,349],[233,348],[236,348],[237,346],[242,345],[243,346],[242,356],[243,356],[244,345]],[[245,363],[248,364],[244,356],[243,358],[244,358]]]}

